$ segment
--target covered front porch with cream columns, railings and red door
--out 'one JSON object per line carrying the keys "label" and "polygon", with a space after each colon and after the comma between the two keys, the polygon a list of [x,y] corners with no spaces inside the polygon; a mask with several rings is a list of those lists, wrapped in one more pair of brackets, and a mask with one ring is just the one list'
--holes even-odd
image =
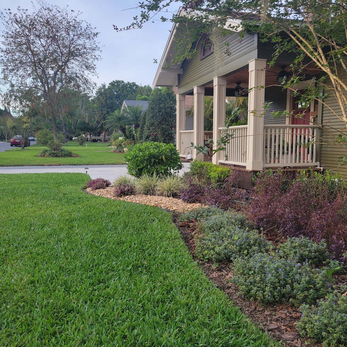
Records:
{"label": "covered front porch with cream columns, railings and red door", "polygon": [[[274,118],[272,111],[293,111],[294,98],[283,90],[277,81],[280,66],[266,69],[266,59],[252,59],[243,69],[224,76],[216,76],[213,82],[194,86],[186,94],[194,95],[194,129],[185,130],[185,96],[177,94],[177,149],[186,158],[210,160],[215,164],[227,164],[259,171],[263,168],[319,167],[320,127],[317,121],[318,106],[305,105],[305,116],[300,118]],[[248,88],[248,124],[225,128],[226,97],[234,96],[236,84]],[[307,83],[296,86],[305,88]],[[204,131],[204,96],[213,96],[213,131]],[[264,110],[264,103],[271,102]],[[299,105],[300,106],[300,105]],[[226,149],[212,156],[198,153],[191,145],[203,144],[212,138],[214,143],[222,132],[231,135]]]}

